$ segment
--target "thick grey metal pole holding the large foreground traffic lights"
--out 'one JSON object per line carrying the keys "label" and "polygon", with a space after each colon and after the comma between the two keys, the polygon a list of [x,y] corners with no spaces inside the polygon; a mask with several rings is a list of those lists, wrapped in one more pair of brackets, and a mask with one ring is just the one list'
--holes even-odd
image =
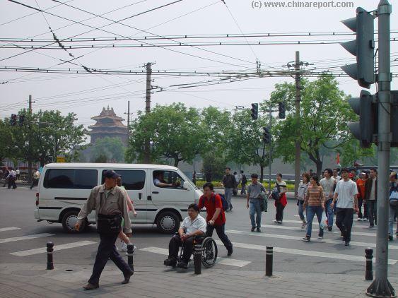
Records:
{"label": "thick grey metal pole holding the large foreground traffic lights", "polygon": [[376,274],[366,294],[370,297],[395,297],[394,288],[388,281],[388,210],[389,167],[391,146],[391,81],[390,69],[390,14],[387,0],[380,0],[377,7],[379,37],[378,83],[378,133],[377,133],[377,234]]}

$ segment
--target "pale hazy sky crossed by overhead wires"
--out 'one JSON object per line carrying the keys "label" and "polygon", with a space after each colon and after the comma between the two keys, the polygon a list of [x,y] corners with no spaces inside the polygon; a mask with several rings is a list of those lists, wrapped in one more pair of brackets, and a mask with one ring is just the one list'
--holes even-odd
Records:
{"label": "pale hazy sky crossed by overhead wires", "polygon": [[[0,117],[10,117],[11,113],[27,108],[28,97],[32,95],[34,112],[39,109],[59,109],[62,114],[74,112],[77,114],[77,123],[84,126],[94,124],[95,121],[90,118],[100,114],[103,107],[107,106],[113,107],[119,116],[127,119],[124,113],[127,112],[128,100],[130,100],[131,117],[136,117],[139,110],[145,109],[146,89],[145,73],[141,76],[120,73],[105,75],[89,73],[84,67],[141,72],[145,71],[145,64],[151,62],[154,73],[157,71],[255,73],[258,60],[262,71],[286,71],[288,70],[286,64],[295,59],[295,51],[300,51],[300,59],[309,63],[306,69],[333,67],[334,71],[339,71],[338,66],[355,63],[355,57],[336,42],[352,40],[354,35],[331,36],[330,33],[349,33],[350,30],[341,23],[341,20],[354,17],[356,7],[361,6],[367,11],[377,8],[377,1],[370,0],[333,1],[333,3],[319,0],[294,1],[295,5],[311,5],[312,8],[266,8],[264,4],[271,3],[269,0],[225,0],[225,4],[224,1],[218,0],[16,1],[31,7],[13,1],[0,1],[0,68],[28,67],[53,71],[72,68],[81,73],[0,71]],[[279,2],[285,6],[293,5],[293,1]],[[352,7],[338,8],[332,7],[332,4],[334,6],[352,4]],[[45,12],[35,11],[33,8]],[[394,5],[392,11],[391,30],[397,32],[392,33],[392,37],[398,37],[398,18],[394,16]],[[115,23],[119,20],[120,23]],[[101,44],[106,47],[66,51],[55,43],[49,28],[64,47],[76,44],[88,46]],[[375,30],[377,30],[377,19]],[[328,35],[316,36],[315,33],[320,32],[326,32]],[[264,37],[268,33],[279,36]],[[303,36],[309,33],[312,36]],[[221,38],[221,35],[242,34],[263,36]],[[201,38],[177,39],[180,35],[191,37],[201,35]],[[203,35],[213,35],[213,37],[204,38]],[[66,41],[72,37],[85,40]],[[93,38],[100,37],[105,40],[92,41]],[[147,39],[119,41],[115,40],[115,37]],[[155,37],[160,39],[150,39]],[[236,43],[259,41],[268,44],[236,45]],[[328,43],[297,44],[298,41]],[[165,44],[178,44],[178,42],[190,46],[163,47]],[[235,45],[192,46],[193,43],[209,44],[209,42],[235,42]],[[288,42],[295,44],[287,44]],[[48,47],[52,49],[29,50],[15,47],[15,45],[22,47],[33,44],[40,46],[51,44]],[[112,44],[116,47],[112,47]],[[156,47],[117,47],[127,44],[156,44]],[[13,48],[9,48],[11,46]],[[395,65],[392,67],[392,72],[398,73],[397,42],[391,42],[391,54],[392,60],[395,59],[392,62],[392,65]],[[71,59],[73,64],[65,62]],[[346,94],[357,96],[361,92],[361,87],[353,79],[348,77],[337,79],[341,90]],[[223,84],[219,84],[220,78],[203,76],[153,74],[152,80],[151,85],[156,86],[151,95],[152,106],[184,102],[188,107],[203,108],[212,105],[228,110],[233,110],[235,106],[250,107],[252,102],[269,99],[276,83],[283,81],[293,83],[291,76],[276,78],[265,76]],[[181,84],[209,80],[216,85],[199,84],[195,88],[179,88]],[[397,79],[394,78],[392,90],[397,89]],[[163,91],[158,92],[160,90]],[[374,85],[370,92],[375,92]]]}

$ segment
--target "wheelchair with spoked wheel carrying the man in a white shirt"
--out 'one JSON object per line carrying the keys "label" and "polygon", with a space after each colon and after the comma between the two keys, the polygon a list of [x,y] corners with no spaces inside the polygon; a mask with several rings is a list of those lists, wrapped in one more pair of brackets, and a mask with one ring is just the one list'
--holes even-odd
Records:
{"label": "wheelchair with spoked wheel carrying the man in a white shirt", "polygon": [[[176,233],[178,234],[178,233]],[[217,244],[214,241],[213,238],[207,237],[206,235],[204,236],[194,236],[194,242],[193,245],[195,244],[201,244],[201,263],[205,268],[211,268],[214,266],[214,264],[217,261]],[[184,251],[183,246],[180,248],[180,254],[177,257],[177,261],[180,262],[182,258],[182,252]],[[192,255],[194,255],[195,250],[192,251]],[[189,260],[191,261],[191,260]]]}

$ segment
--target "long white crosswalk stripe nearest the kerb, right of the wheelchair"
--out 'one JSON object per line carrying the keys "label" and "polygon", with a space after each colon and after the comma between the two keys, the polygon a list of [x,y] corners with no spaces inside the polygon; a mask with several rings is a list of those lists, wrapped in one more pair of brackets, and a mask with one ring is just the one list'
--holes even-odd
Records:
{"label": "long white crosswalk stripe nearest the kerb, right of the wheelchair", "polygon": [[[222,245],[223,242],[216,240],[216,244]],[[257,245],[257,244],[247,244],[247,243],[239,243],[233,242],[234,248],[240,249],[254,249],[257,251],[267,251],[267,246],[264,245]],[[274,252],[283,253],[283,254],[296,254],[300,256],[316,256],[319,258],[335,258],[337,260],[346,260],[346,261],[358,261],[358,262],[365,262],[365,256],[352,256],[348,254],[333,254],[324,251],[304,251],[300,249],[285,249],[283,247],[274,247]],[[398,260],[388,259],[389,265],[394,265],[397,263]],[[373,258],[373,263],[375,263],[375,258]]]}

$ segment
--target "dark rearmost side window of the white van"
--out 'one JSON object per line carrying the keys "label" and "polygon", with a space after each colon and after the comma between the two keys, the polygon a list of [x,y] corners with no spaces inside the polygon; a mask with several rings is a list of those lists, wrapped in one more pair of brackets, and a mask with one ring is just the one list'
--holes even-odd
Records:
{"label": "dark rearmost side window of the white van", "polygon": [[96,169],[47,169],[46,189],[93,189],[97,186]]}

